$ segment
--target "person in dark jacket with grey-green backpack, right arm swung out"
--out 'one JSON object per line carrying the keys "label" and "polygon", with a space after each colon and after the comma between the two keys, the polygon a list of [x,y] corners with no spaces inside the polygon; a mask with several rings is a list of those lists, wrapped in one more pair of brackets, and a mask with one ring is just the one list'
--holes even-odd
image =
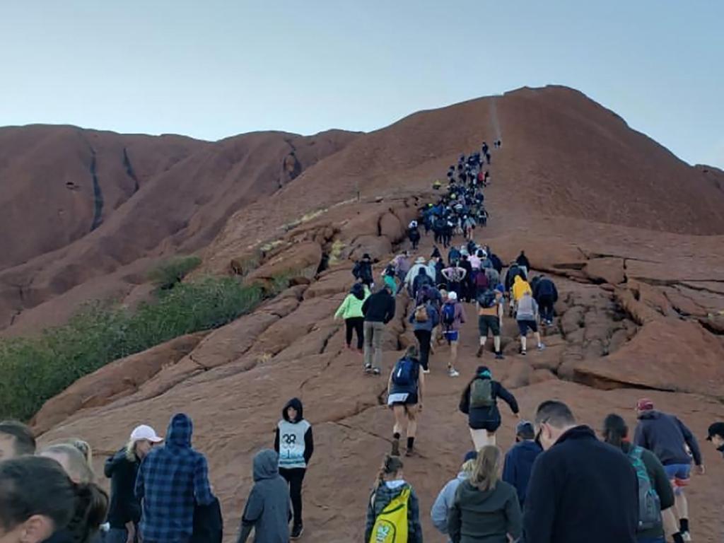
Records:
{"label": "person in dark jacket with grey-green backpack, right arm swung out", "polygon": [[495,445],[495,432],[501,424],[500,411],[497,408],[499,397],[508,404],[513,415],[520,418],[515,396],[493,380],[492,371],[487,366],[478,366],[475,375],[460,395],[459,405],[460,412],[468,416],[475,450],[480,450],[485,445]]}

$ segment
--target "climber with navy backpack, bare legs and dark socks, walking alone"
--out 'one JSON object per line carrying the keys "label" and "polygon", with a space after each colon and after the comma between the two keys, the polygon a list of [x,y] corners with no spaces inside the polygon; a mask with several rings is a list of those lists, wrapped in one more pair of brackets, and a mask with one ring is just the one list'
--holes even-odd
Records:
{"label": "climber with navy backpack, bare legs and dark socks, walking alone", "polygon": [[395,414],[392,428],[392,456],[400,456],[400,436],[403,426],[407,430],[405,456],[412,456],[417,431],[417,415],[422,411],[425,392],[424,372],[420,371],[420,356],[415,345],[410,345],[403,358],[395,363],[387,382],[387,405]]}

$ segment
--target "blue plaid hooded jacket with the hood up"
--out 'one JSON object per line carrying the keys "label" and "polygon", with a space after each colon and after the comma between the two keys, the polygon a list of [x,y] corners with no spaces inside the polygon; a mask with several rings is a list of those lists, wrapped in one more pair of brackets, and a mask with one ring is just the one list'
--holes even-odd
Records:
{"label": "blue plaid hooded jacket with the hood up", "polygon": [[186,543],[196,505],[214,501],[206,458],[191,448],[193,423],[174,415],[166,444],[148,453],[138,470],[135,494],[143,502],[140,531],[146,543]]}

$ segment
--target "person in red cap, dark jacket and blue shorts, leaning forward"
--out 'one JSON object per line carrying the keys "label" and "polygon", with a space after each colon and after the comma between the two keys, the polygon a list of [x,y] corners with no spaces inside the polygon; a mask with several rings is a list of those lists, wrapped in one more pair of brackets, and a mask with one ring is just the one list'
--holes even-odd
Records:
{"label": "person in red cap, dark jacket and blue shorts, leaning forward", "polygon": [[678,528],[683,541],[689,541],[689,502],[683,489],[689,484],[691,457],[686,447],[691,450],[699,473],[704,475],[699,443],[683,422],[673,415],[654,410],[654,403],[648,398],[642,398],[636,403],[636,417],[639,424],[636,424],[636,432],[633,434],[633,445],[652,451],[664,465],[674,488]]}

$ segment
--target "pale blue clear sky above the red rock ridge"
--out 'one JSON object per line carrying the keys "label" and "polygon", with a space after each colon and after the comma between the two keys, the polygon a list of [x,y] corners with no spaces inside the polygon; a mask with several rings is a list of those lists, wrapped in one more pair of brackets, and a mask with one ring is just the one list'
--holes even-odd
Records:
{"label": "pale blue clear sky above the red rock ridge", "polygon": [[370,131],[568,85],[724,168],[721,0],[1,0],[0,126]]}

